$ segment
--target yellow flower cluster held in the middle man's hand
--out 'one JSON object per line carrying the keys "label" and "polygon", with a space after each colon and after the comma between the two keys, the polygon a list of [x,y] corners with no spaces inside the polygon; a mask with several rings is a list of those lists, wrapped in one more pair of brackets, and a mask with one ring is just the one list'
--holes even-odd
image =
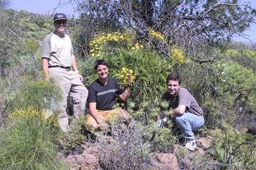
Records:
{"label": "yellow flower cluster held in the middle man's hand", "polygon": [[132,69],[122,67],[122,70],[117,74],[117,78],[121,79],[123,84],[132,84],[134,83],[135,75]]}

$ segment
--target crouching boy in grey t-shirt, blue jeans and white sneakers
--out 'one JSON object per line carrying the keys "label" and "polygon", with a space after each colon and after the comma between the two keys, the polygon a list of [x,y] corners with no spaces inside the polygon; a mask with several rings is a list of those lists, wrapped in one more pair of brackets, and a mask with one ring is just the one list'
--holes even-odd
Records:
{"label": "crouching boy in grey t-shirt, blue jeans and white sneakers", "polygon": [[162,100],[169,103],[168,110],[173,108],[171,116],[186,139],[186,147],[193,151],[197,147],[193,131],[202,127],[205,122],[202,108],[189,91],[181,87],[179,75],[175,73],[169,75],[166,84],[167,91],[164,92]]}

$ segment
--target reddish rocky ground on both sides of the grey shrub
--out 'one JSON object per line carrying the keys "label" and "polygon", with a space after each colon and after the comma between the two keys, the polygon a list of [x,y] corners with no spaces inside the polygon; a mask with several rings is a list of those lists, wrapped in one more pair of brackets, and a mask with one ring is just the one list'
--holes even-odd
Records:
{"label": "reddish rocky ground on both sides of the grey shrub", "polygon": [[[109,137],[109,144],[111,143]],[[153,169],[190,169],[195,166],[197,158],[202,157],[213,142],[213,136],[200,137],[197,140],[197,150],[190,152],[182,145],[174,145],[173,153],[151,153],[151,168]],[[87,143],[81,145],[83,152],[81,154],[65,156],[59,153],[61,158],[69,169],[101,169],[98,159],[97,143]]]}

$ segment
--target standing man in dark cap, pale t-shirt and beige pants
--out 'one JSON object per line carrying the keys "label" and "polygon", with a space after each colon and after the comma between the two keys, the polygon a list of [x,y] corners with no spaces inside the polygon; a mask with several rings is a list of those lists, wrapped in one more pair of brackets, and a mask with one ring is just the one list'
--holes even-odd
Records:
{"label": "standing man in dark cap, pale t-shirt and beige pants", "polygon": [[54,79],[61,87],[61,108],[58,122],[63,132],[69,131],[66,113],[67,97],[70,95],[74,105],[74,117],[84,115],[88,91],[83,85],[83,77],[77,70],[74,49],[69,36],[66,34],[67,17],[65,14],[54,15],[53,33],[43,40],[42,67],[45,80]]}

